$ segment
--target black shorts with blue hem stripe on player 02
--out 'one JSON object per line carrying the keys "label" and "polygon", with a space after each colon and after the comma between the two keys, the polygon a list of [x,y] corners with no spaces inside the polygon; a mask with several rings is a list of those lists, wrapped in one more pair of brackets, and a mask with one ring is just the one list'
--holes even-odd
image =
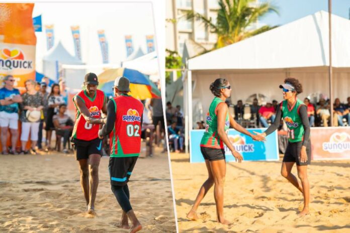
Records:
{"label": "black shorts with blue hem stripe on player 02", "polygon": [[110,157],[108,169],[111,177],[111,185],[123,186],[129,182],[137,158],[138,156]]}

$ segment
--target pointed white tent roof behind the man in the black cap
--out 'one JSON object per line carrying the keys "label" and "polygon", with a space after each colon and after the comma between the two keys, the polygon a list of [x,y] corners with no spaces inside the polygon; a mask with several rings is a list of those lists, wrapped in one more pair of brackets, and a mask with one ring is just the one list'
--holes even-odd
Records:
{"label": "pointed white tent roof behind the man in the black cap", "polygon": [[79,65],[84,64],[78,58],[72,56],[62,45],[61,42],[52,47],[43,57],[45,61],[59,61],[62,64]]}

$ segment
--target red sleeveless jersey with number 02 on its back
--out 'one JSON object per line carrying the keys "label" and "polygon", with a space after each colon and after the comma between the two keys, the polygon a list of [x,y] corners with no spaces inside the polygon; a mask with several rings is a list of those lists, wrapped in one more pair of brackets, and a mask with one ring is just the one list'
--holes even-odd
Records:
{"label": "red sleeveless jersey with number 02 on its back", "polygon": [[116,122],[110,134],[111,157],[139,156],[143,104],[130,95],[111,99],[116,108]]}

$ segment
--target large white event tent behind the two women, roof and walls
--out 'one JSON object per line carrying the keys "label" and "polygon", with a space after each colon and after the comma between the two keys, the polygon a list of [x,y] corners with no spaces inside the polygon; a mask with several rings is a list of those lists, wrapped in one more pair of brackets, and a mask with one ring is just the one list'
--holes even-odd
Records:
{"label": "large white event tent behind the two women, roof and walls", "polygon": [[[280,101],[279,84],[286,77],[301,81],[301,99],[320,93],[329,96],[328,43],[328,13],[320,11],[190,59],[184,80],[187,132],[195,122],[205,119],[205,110],[213,98],[209,86],[218,77],[229,80],[234,103],[238,99],[244,102],[254,93]],[[350,21],[335,15],[332,66],[333,97],[345,101],[350,96]]]}

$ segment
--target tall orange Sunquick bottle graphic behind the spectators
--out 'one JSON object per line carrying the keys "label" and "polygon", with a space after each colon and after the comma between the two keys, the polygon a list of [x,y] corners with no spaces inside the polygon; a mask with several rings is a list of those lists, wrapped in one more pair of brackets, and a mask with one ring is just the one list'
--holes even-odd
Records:
{"label": "tall orange Sunquick bottle graphic behind the spectators", "polygon": [[34,4],[0,4],[0,87],[13,75],[15,87],[25,91],[24,82],[35,79],[36,36],[32,20]]}

